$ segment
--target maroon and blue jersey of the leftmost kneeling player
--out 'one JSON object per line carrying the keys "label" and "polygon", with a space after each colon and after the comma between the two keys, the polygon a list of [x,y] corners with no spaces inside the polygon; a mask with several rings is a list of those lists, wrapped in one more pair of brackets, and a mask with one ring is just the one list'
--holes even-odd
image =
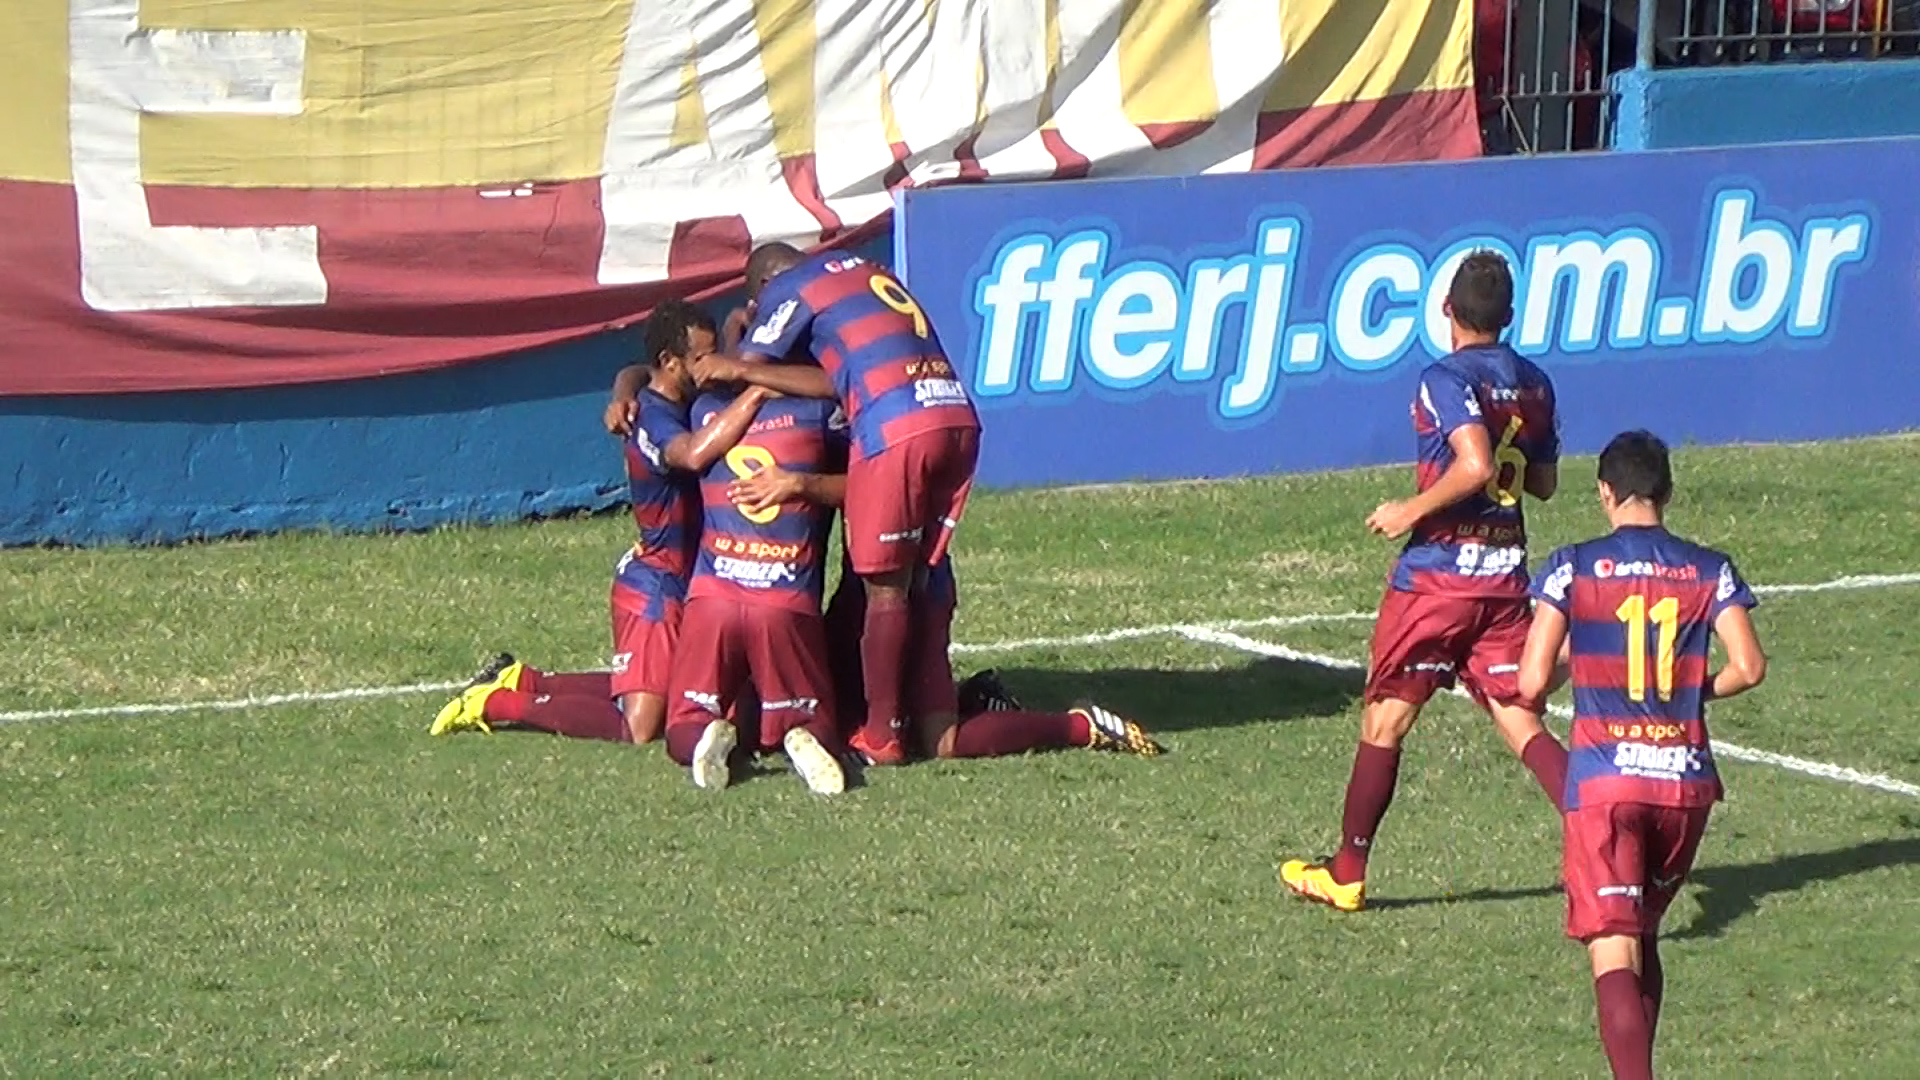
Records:
{"label": "maroon and blue jersey of the leftmost kneeling player", "polygon": [[614,567],[614,590],[680,600],[699,550],[701,503],[697,477],[668,467],[664,454],[674,436],[687,434],[687,409],[653,390],[641,390],[634,405],[634,432],[624,452],[626,494],[639,540]]}

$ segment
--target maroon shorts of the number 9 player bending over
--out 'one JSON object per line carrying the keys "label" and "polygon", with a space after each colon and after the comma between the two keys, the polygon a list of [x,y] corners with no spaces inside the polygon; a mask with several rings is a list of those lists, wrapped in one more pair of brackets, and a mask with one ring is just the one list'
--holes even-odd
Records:
{"label": "maroon shorts of the number 9 player bending over", "polygon": [[979,429],[908,436],[847,467],[847,552],[860,575],[931,567],[973,490]]}

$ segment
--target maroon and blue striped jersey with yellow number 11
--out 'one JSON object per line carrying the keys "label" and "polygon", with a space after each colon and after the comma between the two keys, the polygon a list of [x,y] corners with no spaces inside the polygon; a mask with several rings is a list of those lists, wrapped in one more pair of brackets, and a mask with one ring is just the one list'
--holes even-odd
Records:
{"label": "maroon and blue striped jersey with yellow number 11", "polygon": [[1757,603],[1734,561],[1659,527],[1628,527],[1553,552],[1532,592],[1567,615],[1567,809],[1713,805],[1713,621]]}

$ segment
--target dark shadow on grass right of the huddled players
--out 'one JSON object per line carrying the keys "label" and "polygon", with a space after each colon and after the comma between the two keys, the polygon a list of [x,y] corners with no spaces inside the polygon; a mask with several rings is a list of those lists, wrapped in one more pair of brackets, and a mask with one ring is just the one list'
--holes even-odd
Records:
{"label": "dark shadow on grass right of the huddled players", "polygon": [[1359,705],[1363,682],[1357,671],[1329,671],[1288,659],[1258,659],[1225,671],[998,671],[1027,707],[1066,709],[1092,700],[1140,721],[1150,732],[1338,717]]}

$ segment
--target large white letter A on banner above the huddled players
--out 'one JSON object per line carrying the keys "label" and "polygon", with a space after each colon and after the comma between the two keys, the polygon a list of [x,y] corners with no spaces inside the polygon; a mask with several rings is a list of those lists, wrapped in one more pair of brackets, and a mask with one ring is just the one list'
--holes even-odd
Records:
{"label": "large white letter A on banner above the huddled players", "polygon": [[[708,142],[674,146],[689,48]],[[601,160],[601,284],[666,279],[674,229],[684,221],[741,217],[755,242],[808,242],[820,233],[787,188],[774,150],[751,4],[634,0]]]}

